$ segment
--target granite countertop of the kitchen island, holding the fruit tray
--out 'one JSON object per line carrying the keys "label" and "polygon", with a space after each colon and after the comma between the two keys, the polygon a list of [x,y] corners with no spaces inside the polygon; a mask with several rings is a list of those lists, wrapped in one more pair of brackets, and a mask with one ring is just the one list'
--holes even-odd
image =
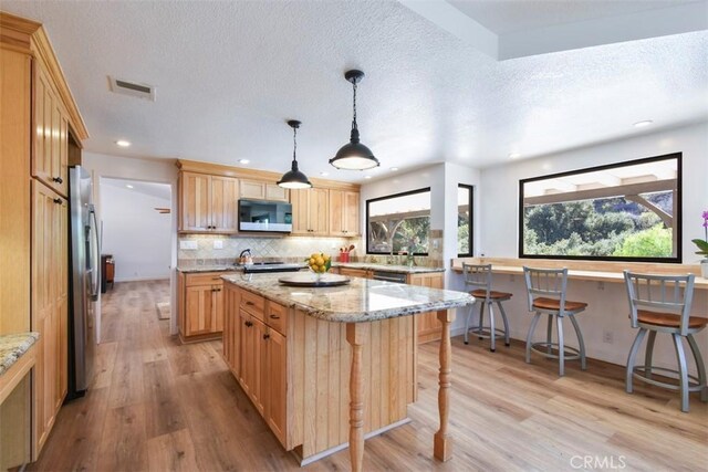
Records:
{"label": "granite countertop of the kitchen island, holding the fruit tray", "polygon": [[[346,285],[332,287],[288,286],[278,282],[285,274],[222,275],[236,284],[310,316],[339,323],[365,323],[470,305],[475,297],[466,292],[428,289],[353,277]],[[327,275],[323,275],[326,277]]]}

